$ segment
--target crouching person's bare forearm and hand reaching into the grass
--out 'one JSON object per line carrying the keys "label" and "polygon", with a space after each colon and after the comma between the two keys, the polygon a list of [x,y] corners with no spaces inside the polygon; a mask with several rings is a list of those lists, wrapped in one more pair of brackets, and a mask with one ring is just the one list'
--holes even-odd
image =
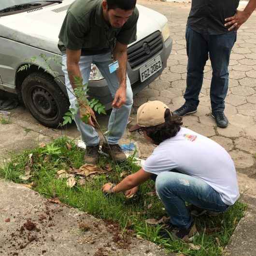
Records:
{"label": "crouching person's bare forearm and hand reaching into the grass", "polygon": [[151,177],[151,173],[144,171],[143,169],[128,175],[124,178],[120,183],[116,186],[112,187],[111,184],[107,183],[103,185],[102,190],[104,193],[119,193],[124,192],[128,189],[136,187],[143,182],[149,180]]}

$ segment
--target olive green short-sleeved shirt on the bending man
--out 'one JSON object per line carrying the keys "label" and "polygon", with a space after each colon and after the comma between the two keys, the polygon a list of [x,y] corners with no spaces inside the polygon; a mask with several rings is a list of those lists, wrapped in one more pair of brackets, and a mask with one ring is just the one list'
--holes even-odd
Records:
{"label": "olive green short-sleeved shirt on the bending man", "polygon": [[58,36],[62,54],[68,48],[81,49],[81,55],[96,55],[113,50],[115,40],[122,44],[136,41],[138,9],[122,28],[112,28],[103,18],[101,3],[102,0],[76,0],[71,4]]}

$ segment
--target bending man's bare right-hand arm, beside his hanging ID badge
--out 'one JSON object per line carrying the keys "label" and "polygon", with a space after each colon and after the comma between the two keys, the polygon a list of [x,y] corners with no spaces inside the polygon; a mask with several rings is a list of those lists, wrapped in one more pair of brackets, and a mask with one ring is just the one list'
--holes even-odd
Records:
{"label": "bending man's bare right-hand arm, beside his hanging ID badge", "polygon": [[119,64],[119,69],[116,72],[120,86],[115,93],[112,106],[114,108],[120,108],[126,102],[127,44],[122,44],[116,41],[114,59],[118,60]]}

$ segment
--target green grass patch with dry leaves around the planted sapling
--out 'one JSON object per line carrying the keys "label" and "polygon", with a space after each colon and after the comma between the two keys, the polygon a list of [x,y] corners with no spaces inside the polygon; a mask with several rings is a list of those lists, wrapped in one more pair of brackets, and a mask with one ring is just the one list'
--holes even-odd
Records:
{"label": "green grass patch with dry leaves around the planted sapling", "polygon": [[[160,219],[164,215],[167,216],[161,201],[156,196],[147,194],[154,190],[154,182],[149,181],[141,185],[138,195],[131,199],[126,199],[122,193],[103,195],[101,191],[103,184],[118,183],[124,171],[129,174],[140,169],[132,156],[125,163],[115,167],[110,159],[102,157],[99,165],[103,167],[110,164],[113,168],[111,173],[95,176],[85,185],[76,184],[69,188],[66,185],[66,179],[57,179],[56,173],[58,170],[69,170],[70,167],[79,168],[83,165],[84,151],[77,148],[71,140],[62,137],[45,147],[39,146],[14,156],[12,160],[0,167],[0,176],[16,183],[24,183],[20,175],[25,173],[25,167],[29,161],[28,155],[31,153],[32,177],[28,183],[34,183],[34,190],[47,198],[58,197],[63,203],[96,217],[116,221],[123,233],[133,229],[143,239],[156,242],[170,252],[189,256],[221,255],[246,207],[236,202],[226,213],[219,214],[217,217],[202,216],[195,219],[199,236],[194,240],[194,244],[199,245],[200,249],[193,250],[185,242],[161,238],[158,235],[161,228],[159,225],[151,226],[145,223],[148,218]],[[150,209],[148,209],[149,204],[152,204]]]}

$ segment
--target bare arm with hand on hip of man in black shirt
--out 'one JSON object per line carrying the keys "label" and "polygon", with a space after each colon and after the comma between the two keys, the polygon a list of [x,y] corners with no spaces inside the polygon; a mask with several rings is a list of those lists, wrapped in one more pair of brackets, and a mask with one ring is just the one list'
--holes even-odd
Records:
{"label": "bare arm with hand on hip of man in black shirt", "polygon": [[242,24],[251,16],[253,11],[256,9],[256,0],[249,0],[246,7],[243,11],[238,11],[236,14],[232,17],[228,17],[225,19],[225,21],[228,21],[225,23],[225,26],[231,26],[228,28],[229,31],[235,29],[237,30],[242,26]]}

